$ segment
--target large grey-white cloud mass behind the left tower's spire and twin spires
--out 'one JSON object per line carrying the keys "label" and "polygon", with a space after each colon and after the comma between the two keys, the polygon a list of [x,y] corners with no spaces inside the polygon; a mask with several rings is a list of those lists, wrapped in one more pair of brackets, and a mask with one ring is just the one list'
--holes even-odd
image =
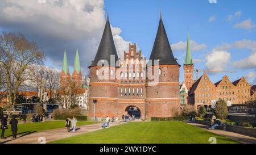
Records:
{"label": "large grey-white cloud mass behind the left tower's spire and twin spires", "polygon": [[[105,26],[104,0],[2,0],[0,27],[24,33],[46,53],[48,64],[61,66],[64,48],[69,65],[73,65],[79,48],[81,66],[87,70],[96,55]],[[111,23],[111,12],[110,12]],[[118,55],[128,49],[130,41],[112,28]]]}

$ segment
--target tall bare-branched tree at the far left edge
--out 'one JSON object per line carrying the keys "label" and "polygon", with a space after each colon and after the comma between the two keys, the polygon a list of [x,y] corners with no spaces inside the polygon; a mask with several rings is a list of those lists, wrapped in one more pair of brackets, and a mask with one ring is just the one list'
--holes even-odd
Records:
{"label": "tall bare-branched tree at the far left edge", "polygon": [[22,33],[3,32],[0,47],[0,64],[6,75],[9,103],[14,105],[19,86],[28,79],[26,71],[31,69],[31,64],[42,64],[44,53]]}

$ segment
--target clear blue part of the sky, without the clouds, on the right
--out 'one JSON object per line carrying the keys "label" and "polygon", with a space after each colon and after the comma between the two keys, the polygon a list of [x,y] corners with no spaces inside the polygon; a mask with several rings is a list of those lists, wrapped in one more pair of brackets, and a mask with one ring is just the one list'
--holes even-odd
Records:
{"label": "clear blue part of the sky, without the clouds, on the right", "polygon": [[[233,43],[243,39],[256,40],[255,27],[250,30],[234,27],[235,24],[249,18],[256,23],[255,6],[256,1],[229,0],[218,0],[217,3],[209,3],[208,0],[105,1],[105,9],[109,10],[110,22],[122,29],[121,36],[125,39],[137,42],[147,58],[150,56],[158,28],[159,9],[162,9],[163,22],[170,43],[185,42],[189,29],[191,40],[207,45],[205,49],[192,52],[193,58],[203,59],[212,52],[214,47],[222,43]],[[228,16],[234,16],[238,11],[241,11],[241,15],[228,21]],[[209,22],[210,16],[214,16],[214,21]],[[255,73],[255,68],[237,69],[231,65],[234,61],[250,56],[250,49],[232,48],[228,52],[231,53],[231,58],[223,70],[236,70],[237,73],[210,74],[213,82],[217,82],[225,74],[234,81],[249,72]],[[180,64],[183,64],[184,54],[185,50],[174,51]],[[195,68],[205,69],[207,66],[205,62],[201,62],[195,63]],[[181,67],[180,82],[182,81],[183,69]]]}

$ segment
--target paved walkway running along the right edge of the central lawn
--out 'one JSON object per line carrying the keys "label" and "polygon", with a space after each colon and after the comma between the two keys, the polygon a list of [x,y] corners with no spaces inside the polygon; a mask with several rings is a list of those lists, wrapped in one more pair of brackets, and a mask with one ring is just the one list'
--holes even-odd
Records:
{"label": "paved walkway running along the right edge of the central lawn", "polygon": [[229,139],[239,141],[240,143],[245,144],[256,144],[256,139],[254,137],[249,137],[245,135],[241,135],[239,133],[230,132],[230,131],[224,131],[221,129],[208,129],[207,125],[199,124],[199,123],[188,123],[195,127],[203,128],[209,132],[215,133],[217,135],[221,135],[224,137],[228,137]]}

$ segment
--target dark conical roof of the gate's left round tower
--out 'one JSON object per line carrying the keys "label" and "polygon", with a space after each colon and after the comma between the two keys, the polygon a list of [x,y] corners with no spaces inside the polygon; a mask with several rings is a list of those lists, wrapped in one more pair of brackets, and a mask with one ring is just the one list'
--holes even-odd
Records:
{"label": "dark conical roof of the gate's left round tower", "polygon": [[108,15],[105,29],[104,29],[103,35],[101,37],[100,46],[98,47],[96,56],[95,56],[92,64],[89,67],[97,66],[98,61],[100,61],[100,60],[108,61],[109,66],[115,67],[116,66],[115,62],[112,62],[112,64],[110,64],[110,56],[111,55],[115,56],[115,62],[117,62],[117,60],[118,60],[117,50],[115,49],[115,44],[114,44],[114,40],[113,40],[113,36],[112,36],[112,31],[110,28],[109,15]]}

